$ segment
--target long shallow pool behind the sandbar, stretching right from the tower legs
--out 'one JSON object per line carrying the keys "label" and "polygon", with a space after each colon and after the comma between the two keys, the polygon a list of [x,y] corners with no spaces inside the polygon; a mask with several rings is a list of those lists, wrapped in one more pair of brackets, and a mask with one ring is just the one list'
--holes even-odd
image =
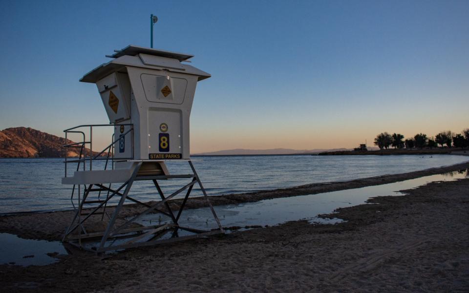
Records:
{"label": "long shallow pool behind the sandbar, stretching right from the tower legs", "polygon": [[[310,223],[335,224],[341,219],[322,219],[317,215],[331,213],[335,209],[363,204],[370,197],[403,195],[397,190],[417,188],[434,181],[453,181],[468,176],[468,171],[455,171],[389,183],[378,186],[346,189],[310,195],[299,195],[267,199],[255,203],[215,206],[214,209],[223,227],[265,227],[288,221],[308,220]],[[208,220],[207,220],[208,219]],[[161,214],[148,214],[138,223],[149,226],[170,223],[170,218]],[[179,219],[184,227],[209,230],[216,228],[209,208],[184,210]]]}

